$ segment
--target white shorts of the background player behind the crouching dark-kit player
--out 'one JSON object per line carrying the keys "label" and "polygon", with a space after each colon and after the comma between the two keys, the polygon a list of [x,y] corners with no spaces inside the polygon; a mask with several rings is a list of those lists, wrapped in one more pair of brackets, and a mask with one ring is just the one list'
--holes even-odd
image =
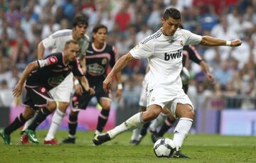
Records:
{"label": "white shorts of the background player behind the crouching dark-kit player", "polygon": [[70,103],[73,86],[73,73],[70,72],[58,86],[50,89],[50,95],[55,101]]}

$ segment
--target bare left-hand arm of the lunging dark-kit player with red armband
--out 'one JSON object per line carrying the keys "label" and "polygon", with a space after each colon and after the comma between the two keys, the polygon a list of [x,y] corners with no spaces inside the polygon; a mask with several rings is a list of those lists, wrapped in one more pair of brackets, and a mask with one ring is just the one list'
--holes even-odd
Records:
{"label": "bare left-hand arm of the lunging dark-kit player with red armband", "polygon": [[26,69],[24,69],[23,74],[21,75],[21,79],[18,80],[18,83],[16,84],[16,86],[14,87],[13,90],[13,95],[14,96],[20,96],[21,95],[21,91],[22,91],[22,87],[26,81],[26,79],[28,78],[28,75],[34,70],[37,69],[38,63],[37,61],[31,62],[26,66]]}

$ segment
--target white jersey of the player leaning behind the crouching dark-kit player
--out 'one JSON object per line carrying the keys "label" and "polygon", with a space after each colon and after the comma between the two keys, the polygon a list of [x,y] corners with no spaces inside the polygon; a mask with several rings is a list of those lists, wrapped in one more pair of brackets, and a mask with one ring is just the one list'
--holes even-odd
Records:
{"label": "white jersey of the player leaning behind the crouching dark-kit player", "polygon": [[[51,52],[62,52],[65,46],[65,43],[68,40],[73,40],[72,30],[58,30],[57,32],[49,35],[43,40],[43,46],[46,49],[50,49]],[[84,35],[83,38],[78,40],[79,52],[78,57],[81,55],[86,55],[87,47],[89,46],[90,38],[87,35]]]}

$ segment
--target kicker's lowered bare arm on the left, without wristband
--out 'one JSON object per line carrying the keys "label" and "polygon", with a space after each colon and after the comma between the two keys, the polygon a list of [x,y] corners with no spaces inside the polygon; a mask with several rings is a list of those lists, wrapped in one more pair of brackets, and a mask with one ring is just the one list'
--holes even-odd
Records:
{"label": "kicker's lowered bare arm on the left, without wristband", "polygon": [[104,91],[107,92],[107,90],[109,89],[113,76],[120,72],[132,60],[134,60],[134,57],[132,57],[132,55],[129,52],[126,55],[120,57],[119,60],[117,60],[110,74],[108,74],[106,79],[103,81]]}

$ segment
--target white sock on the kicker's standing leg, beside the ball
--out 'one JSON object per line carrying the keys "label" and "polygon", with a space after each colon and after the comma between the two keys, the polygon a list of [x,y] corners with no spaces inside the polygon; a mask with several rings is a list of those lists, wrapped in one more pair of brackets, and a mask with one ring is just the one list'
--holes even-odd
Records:
{"label": "white sock on the kicker's standing leg, beside the ball", "polygon": [[188,135],[188,131],[191,129],[193,120],[191,118],[180,118],[178,124],[174,130],[174,143],[176,145],[176,150],[179,150],[183,144],[183,141]]}

